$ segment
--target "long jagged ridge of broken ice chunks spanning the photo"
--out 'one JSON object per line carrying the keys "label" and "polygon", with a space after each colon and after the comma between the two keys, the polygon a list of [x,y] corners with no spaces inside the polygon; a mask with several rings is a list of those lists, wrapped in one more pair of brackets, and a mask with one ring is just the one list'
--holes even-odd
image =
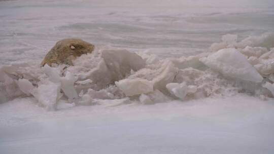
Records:
{"label": "long jagged ridge of broken ice chunks spanning the photo", "polygon": [[227,34],[212,52],[160,59],[126,50],[96,49],[53,67],[14,63],[0,68],[0,102],[30,96],[48,108],[174,99],[232,96],[247,93],[274,96],[274,35],[237,41]]}

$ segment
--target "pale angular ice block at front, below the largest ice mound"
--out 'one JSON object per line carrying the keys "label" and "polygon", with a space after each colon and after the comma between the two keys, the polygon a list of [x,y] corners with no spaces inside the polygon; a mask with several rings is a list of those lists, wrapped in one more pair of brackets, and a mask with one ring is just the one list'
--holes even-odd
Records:
{"label": "pale angular ice block at front, below the largest ice mound", "polygon": [[115,85],[123,91],[126,96],[146,94],[153,91],[152,82],[145,79],[124,79],[115,82]]}

